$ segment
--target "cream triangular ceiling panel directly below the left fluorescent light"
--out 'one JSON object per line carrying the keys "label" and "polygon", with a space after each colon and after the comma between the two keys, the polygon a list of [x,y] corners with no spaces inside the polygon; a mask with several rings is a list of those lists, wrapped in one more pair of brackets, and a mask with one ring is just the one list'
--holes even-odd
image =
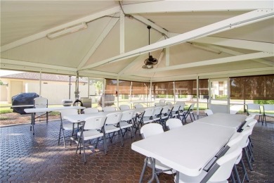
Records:
{"label": "cream triangular ceiling panel directly below the left fluorescent light", "polygon": [[110,18],[100,18],[100,20],[89,23],[86,30],[67,34],[58,39],[50,40],[44,37],[4,51],[1,53],[1,58],[77,68],[81,59],[107,25],[108,19]]}

